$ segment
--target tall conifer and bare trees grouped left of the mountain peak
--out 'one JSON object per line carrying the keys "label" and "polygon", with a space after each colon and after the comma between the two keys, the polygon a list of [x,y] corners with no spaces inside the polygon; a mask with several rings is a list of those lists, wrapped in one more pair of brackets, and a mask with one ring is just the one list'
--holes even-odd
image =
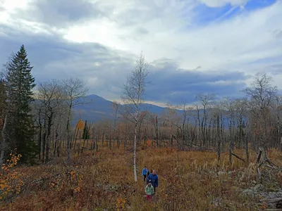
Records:
{"label": "tall conifer and bare trees grouped left of the mountain peak", "polygon": [[23,162],[49,162],[73,143],[71,115],[84,103],[87,87],[77,78],[35,84],[25,46],[4,65],[0,81],[0,165],[16,149]]}

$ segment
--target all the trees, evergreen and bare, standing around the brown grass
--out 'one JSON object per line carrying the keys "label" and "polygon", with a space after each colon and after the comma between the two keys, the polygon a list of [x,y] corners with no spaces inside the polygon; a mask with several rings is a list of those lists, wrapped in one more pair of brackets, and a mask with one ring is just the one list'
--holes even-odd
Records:
{"label": "all the trees, evergreen and bare, standing around the brown grass", "polygon": [[78,155],[95,155],[100,148],[106,148],[107,152],[133,153],[130,168],[134,174],[128,177],[137,182],[141,171],[138,151],[159,148],[176,151],[178,162],[181,152],[214,152],[217,165],[225,163],[222,155],[227,154],[229,165],[248,165],[250,151],[255,151],[259,178],[266,162],[276,166],[268,151],[282,151],[282,96],[269,75],[257,74],[252,84],[242,89],[243,98],[200,93],[195,96],[195,103],[168,104],[159,115],[142,106],[149,86],[148,74],[149,64],[141,54],[124,84],[123,103],[112,105],[111,120],[94,124],[74,120],[73,108],[87,103],[88,87],[77,78],[52,79],[35,86],[32,65],[21,46],[4,66],[0,82],[0,165],[14,151],[21,156],[13,159],[25,165],[48,165],[59,159],[65,167],[71,167]]}

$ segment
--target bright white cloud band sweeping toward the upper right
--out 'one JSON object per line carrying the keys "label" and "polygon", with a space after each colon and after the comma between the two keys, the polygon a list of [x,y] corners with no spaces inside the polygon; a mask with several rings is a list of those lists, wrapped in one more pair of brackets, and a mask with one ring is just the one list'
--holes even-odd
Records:
{"label": "bright white cloud band sweeping toward the upper right", "polygon": [[[70,41],[99,42],[135,54],[143,51],[149,61],[171,58],[185,69],[200,65],[204,70],[235,70],[234,67],[250,60],[281,53],[281,40],[272,33],[280,28],[281,3],[201,26],[195,19],[199,16],[195,12],[197,6],[191,3],[185,10],[185,5],[171,4],[166,13],[160,12],[163,7],[145,6],[141,11],[138,4],[135,5],[138,9],[125,6],[123,13],[111,16],[116,21],[110,18],[92,20],[85,25],[69,27],[63,37]],[[148,33],[136,30],[140,28]]]}

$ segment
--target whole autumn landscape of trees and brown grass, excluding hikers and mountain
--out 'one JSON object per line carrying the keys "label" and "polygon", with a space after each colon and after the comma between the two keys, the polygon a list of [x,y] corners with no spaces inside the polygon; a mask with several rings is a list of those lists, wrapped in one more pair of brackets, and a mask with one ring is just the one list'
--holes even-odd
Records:
{"label": "whole autumn landscape of trees and brown grass, excluding hikers and mountain", "polygon": [[[266,73],[242,98],[199,92],[156,114],[144,106],[141,53],[113,118],[92,123],[73,118],[87,103],[85,82],[37,82],[32,68],[20,46],[1,74],[1,210],[282,208],[282,96]],[[144,166],[160,180],[152,202]]]}

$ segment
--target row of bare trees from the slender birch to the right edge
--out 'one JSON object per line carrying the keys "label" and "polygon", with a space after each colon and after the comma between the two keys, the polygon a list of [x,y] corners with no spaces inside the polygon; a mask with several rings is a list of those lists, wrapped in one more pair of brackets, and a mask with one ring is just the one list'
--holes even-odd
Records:
{"label": "row of bare trees from the slender birch to the right edge", "polygon": [[[133,140],[135,154],[136,144],[141,146],[142,141],[150,140],[157,147],[214,150],[219,162],[221,151],[228,151],[230,163],[233,158],[248,163],[249,147],[259,151],[258,162],[261,155],[262,162],[269,161],[267,149],[282,150],[282,96],[271,84],[269,75],[255,75],[252,84],[242,90],[245,94],[242,98],[219,99],[214,94],[200,93],[193,105],[167,105],[164,113],[158,115],[141,107],[148,84],[148,67],[141,55],[123,87],[123,104],[113,103],[114,121],[94,124],[97,134],[102,134],[102,142],[106,134],[109,148],[115,141],[118,147],[121,140],[124,146]],[[234,148],[245,149],[245,157],[236,155]]]}

